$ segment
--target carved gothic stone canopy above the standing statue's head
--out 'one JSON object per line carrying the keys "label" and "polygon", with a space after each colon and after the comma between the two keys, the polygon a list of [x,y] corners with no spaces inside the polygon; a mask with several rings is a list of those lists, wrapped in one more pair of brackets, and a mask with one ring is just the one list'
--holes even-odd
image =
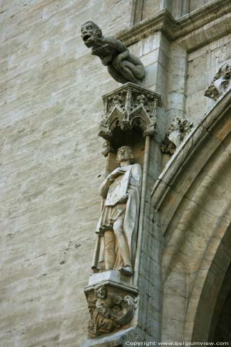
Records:
{"label": "carved gothic stone canopy above the standing statue's head", "polygon": [[99,136],[110,145],[115,128],[132,130],[139,128],[144,136],[155,134],[156,109],[161,106],[160,94],[126,83],[103,96],[103,117]]}

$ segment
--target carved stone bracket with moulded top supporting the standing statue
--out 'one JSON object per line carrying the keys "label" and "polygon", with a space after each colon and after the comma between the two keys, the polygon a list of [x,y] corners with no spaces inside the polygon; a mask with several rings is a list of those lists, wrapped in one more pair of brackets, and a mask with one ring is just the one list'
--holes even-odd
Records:
{"label": "carved stone bracket with moulded top supporting the standing statue", "polygon": [[[117,280],[116,272],[118,271],[112,272],[114,273],[108,278],[112,277]],[[139,291],[135,287],[110,279],[85,287],[85,296],[91,316],[88,337],[92,339],[130,328],[138,305],[138,293]]]}

